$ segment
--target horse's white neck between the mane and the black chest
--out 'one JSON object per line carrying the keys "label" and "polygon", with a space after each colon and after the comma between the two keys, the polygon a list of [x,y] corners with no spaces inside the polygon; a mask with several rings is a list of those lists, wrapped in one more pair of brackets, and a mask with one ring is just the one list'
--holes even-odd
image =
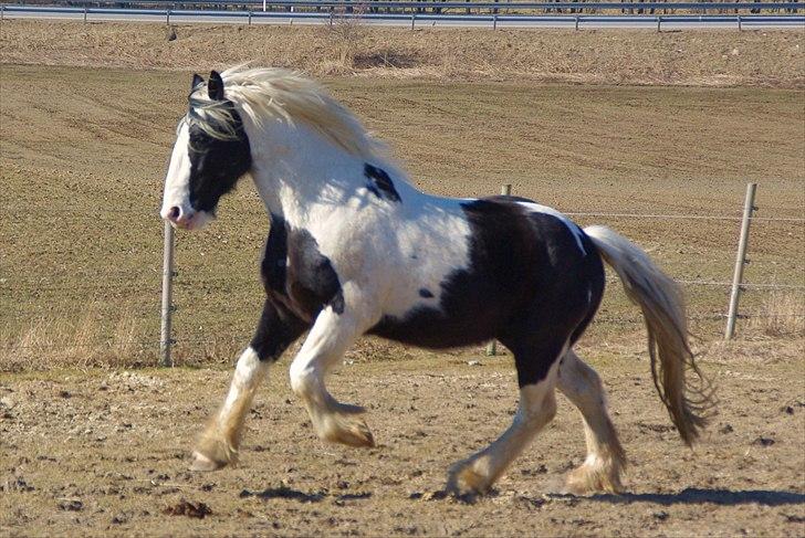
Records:
{"label": "horse's white neck between the mane and the black chest", "polygon": [[266,210],[306,226],[312,208],[346,203],[363,184],[364,159],[316,133],[284,124],[250,134],[252,178]]}

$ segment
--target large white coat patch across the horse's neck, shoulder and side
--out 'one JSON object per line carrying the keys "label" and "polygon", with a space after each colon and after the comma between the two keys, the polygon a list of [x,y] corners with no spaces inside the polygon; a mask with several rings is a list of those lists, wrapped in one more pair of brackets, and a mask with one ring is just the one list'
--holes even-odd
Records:
{"label": "large white coat patch across the horse's neck, shoulder and side", "polygon": [[[316,240],[342,286],[355,282],[352,300],[364,330],[384,315],[401,317],[417,306],[438,306],[441,283],[470,261],[468,200],[426,194],[390,161],[368,163],[388,173],[400,202],[366,186],[360,157],[326,144],[304,124],[282,122],[255,128],[244,122],[252,145],[252,178],[266,209]],[[421,297],[427,289],[433,297]]]}

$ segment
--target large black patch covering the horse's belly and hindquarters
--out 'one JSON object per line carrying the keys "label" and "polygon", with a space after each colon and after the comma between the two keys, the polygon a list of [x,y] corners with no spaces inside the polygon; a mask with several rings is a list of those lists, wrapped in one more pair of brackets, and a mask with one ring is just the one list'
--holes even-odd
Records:
{"label": "large black patch covering the horse's belly and hindquarters", "polygon": [[564,222],[531,213],[516,201],[525,200],[463,203],[471,230],[469,266],[445,278],[438,307],[385,316],[369,333],[430,348],[498,338],[514,355],[521,387],[544,379],[598,308],[604,267],[586,235],[585,254]]}

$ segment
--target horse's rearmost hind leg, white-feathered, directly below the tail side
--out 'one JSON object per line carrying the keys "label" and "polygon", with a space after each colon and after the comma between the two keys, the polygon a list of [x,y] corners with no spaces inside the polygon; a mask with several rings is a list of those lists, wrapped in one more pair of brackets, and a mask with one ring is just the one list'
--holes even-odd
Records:
{"label": "horse's rearmost hind leg, white-feathered, directly below the tail side", "polygon": [[600,378],[571,350],[560,363],[557,384],[582,413],[587,441],[587,458],[567,476],[567,488],[575,494],[621,492],[626,456],[607,414]]}

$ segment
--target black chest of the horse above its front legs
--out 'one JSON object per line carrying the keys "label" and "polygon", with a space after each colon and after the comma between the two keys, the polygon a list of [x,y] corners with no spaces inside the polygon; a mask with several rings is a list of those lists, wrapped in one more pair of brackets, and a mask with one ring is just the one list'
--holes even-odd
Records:
{"label": "black chest of the horse above its front legs", "polygon": [[261,271],[269,296],[305,320],[312,321],[326,306],[344,312],[338,275],[315,238],[279,217],[271,222]]}

